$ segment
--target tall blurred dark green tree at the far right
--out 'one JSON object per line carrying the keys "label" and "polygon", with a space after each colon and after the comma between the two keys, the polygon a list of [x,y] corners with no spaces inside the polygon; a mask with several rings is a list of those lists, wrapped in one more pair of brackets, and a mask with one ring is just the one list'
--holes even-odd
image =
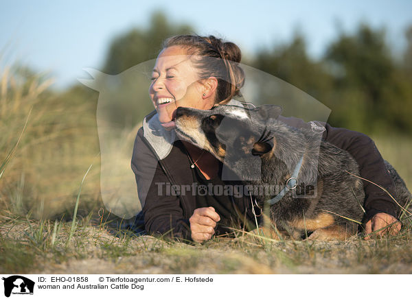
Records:
{"label": "tall blurred dark green tree at the far right", "polygon": [[[409,91],[385,41],[385,29],[361,24],[341,34],[327,49],[334,76],[332,117],[364,132],[411,130]],[[332,108],[332,111],[333,111]],[[409,111],[408,113],[406,113]]]}

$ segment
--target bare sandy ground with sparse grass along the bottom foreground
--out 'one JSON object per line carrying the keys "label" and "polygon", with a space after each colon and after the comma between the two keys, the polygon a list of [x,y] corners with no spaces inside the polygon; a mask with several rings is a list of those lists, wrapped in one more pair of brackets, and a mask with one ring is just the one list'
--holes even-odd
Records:
{"label": "bare sandy ground with sparse grass along the bottom foreground", "polygon": [[[2,225],[7,239],[25,240],[25,224]],[[61,240],[67,232],[60,232]],[[254,242],[254,243],[253,243]],[[204,245],[162,241],[151,236],[116,237],[108,230],[79,228],[65,248],[38,252],[32,274],[412,274],[410,243],[388,244],[219,239]]]}

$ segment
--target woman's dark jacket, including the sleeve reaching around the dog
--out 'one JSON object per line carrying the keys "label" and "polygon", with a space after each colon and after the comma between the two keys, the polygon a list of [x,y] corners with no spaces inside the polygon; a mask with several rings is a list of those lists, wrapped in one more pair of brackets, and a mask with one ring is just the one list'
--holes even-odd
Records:
{"label": "woman's dark jacket, including the sleeve reaching around the dog", "polygon": [[[152,112],[146,120],[154,115],[155,112]],[[280,116],[279,120],[295,128],[304,128],[312,124],[295,117]],[[321,125],[325,128],[324,141],[349,152],[358,163],[363,178],[376,182],[393,194],[395,188],[393,180],[374,141],[359,132],[334,128],[327,123]],[[189,218],[196,208],[194,194],[185,193],[176,196],[163,194],[166,183],[179,186],[193,183],[190,163],[182,146],[181,143],[174,143],[170,153],[160,159],[145,138],[144,129],[140,128],[135,139],[131,167],[135,173],[137,191],[143,206],[146,231],[190,240]],[[396,204],[389,195],[374,184],[366,181],[363,181],[363,184],[366,195],[364,222],[380,212],[396,217]]]}

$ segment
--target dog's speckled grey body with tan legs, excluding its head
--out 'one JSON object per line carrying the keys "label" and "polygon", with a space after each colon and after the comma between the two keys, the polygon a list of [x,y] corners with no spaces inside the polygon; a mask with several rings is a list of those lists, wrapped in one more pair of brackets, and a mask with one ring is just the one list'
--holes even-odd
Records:
{"label": "dog's speckled grey body with tan legs, excluding its head", "polygon": [[[277,228],[285,230],[293,237],[304,237],[314,232],[312,239],[345,239],[357,232],[357,224],[360,224],[365,216],[365,193],[356,160],[345,150],[328,142],[321,141],[319,145],[314,138],[316,134],[311,130],[299,130],[300,135],[295,141],[288,136],[295,136],[296,129],[282,121],[271,121],[268,130],[275,132],[273,142],[277,148],[270,155],[262,156],[262,169],[266,171],[266,180],[275,176],[280,178],[276,180],[277,184],[279,181],[284,182],[287,178],[285,174],[290,174],[290,169],[286,173],[279,171],[284,164],[284,155],[291,155],[290,153],[296,151],[296,147],[304,147],[304,162],[298,181],[314,186],[314,193],[310,196],[299,196],[295,190],[290,191],[271,206],[271,217]],[[288,139],[287,143],[276,141],[285,138]],[[296,158],[292,164],[296,165]],[[409,208],[411,211],[408,203],[411,202],[412,195],[406,184],[387,161],[385,165],[395,183],[395,193],[391,196],[396,200],[398,210]],[[314,167],[317,167],[315,180]],[[265,200],[267,198],[261,198],[262,203]]]}

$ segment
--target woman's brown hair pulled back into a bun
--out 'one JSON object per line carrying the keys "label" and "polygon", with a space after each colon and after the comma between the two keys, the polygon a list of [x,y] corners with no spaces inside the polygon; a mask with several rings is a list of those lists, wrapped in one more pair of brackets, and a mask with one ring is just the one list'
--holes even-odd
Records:
{"label": "woman's brown hair pulled back into a bun", "polygon": [[198,57],[194,63],[201,79],[216,77],[216,104],[226,104],[233,96],[239,95],[244,84],[244,72],[238,65],[242,53],[237,45],[214,36],[179,35],[163,43],[163,49],[172,46],[182,46],[188,55]]}

